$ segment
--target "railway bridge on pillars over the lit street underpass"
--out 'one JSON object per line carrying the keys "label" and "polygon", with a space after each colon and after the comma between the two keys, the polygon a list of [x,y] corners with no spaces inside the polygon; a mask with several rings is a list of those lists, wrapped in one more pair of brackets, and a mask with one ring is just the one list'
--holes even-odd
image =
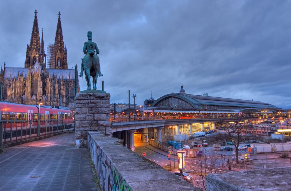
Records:
{"label": "railway bridge on pillars over the lit street underpass", "polygon": [[[245,120],[258,119],[258,117],[245,118]],[[175,128],[174,134],[190,135],[198,130],[204,130],[206,128],[214,129],[216,123],[230,122],[230,121],[242,121],[242,117],[228,117],[228,118],[200,118],[200,119],[161,119],[161,120],[138,120],[127,122],[115,122],[112,123],[113,137],[124,140],[124,145],[131,150],[134,150],[134,133],[139,132],[143,134],[142,137],[149,137],[148,134],[154,134],[157,142],[162,142],[162,130],[168,130],[169,128]],[[149,132],[148,128],[152,130]],[[143,139],[144,142],[148,141],[148,138]]]}

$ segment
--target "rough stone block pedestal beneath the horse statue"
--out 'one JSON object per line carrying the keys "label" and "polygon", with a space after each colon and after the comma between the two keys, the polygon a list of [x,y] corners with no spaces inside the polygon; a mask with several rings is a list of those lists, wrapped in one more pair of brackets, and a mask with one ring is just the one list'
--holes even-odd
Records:
{"label": "rough stone block pedestal beneath the horse statue", "polygon": [[[112,137],[110,125],[110,94],[94,93],[100,90],[86,90],[75,97],[76,146],[87,146],[87,132],[98,131]],[[102,92],[102,91],[101,91]]]}

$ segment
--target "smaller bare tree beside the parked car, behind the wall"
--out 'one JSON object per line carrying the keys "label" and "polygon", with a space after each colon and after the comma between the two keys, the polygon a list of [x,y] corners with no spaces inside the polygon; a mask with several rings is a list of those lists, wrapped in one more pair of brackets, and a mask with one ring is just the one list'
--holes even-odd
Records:
{"label": "smaller bare tree beside the parked car, behind the wall", "polygon": [[192,158],[190,168],[194,175],[200,179],[194,179],[196,186],[202,190],[206,190],[206,175],[210,173],[221,173],[226,170],[223,169],[227,165],[225,155],[220,154],[214,150],[203,149],[203,156]]}

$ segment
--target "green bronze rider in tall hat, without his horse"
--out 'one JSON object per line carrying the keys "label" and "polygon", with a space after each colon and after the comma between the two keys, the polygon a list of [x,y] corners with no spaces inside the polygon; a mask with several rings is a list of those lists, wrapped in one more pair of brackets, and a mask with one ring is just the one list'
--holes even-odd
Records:
{"label": "green bronze rider in tall hat, without his horse", "polygon": [[[99,69],[99,76],[103,76],[103,74],[100,71],[100,63],[99,63],[99,57],[96,54],[99,54],[99,49],[97,47],[97,44],[95,42],[92,42],[92,32],[88,31],[87,33],[87,37],[88,37],[88,42],[84,43],[84,47],[83,47],[83,52],[85,55],[85,57],[82,59],[82,63],[81,63],[81,72],[79,74],[79,76],[83,76],[83,71],[84,71],[84,62],[91,62],[94,63],[95,61],[97,61],[98,64],[98,69]],[[96,54],[95,54],[95,50],[96,50]]]}

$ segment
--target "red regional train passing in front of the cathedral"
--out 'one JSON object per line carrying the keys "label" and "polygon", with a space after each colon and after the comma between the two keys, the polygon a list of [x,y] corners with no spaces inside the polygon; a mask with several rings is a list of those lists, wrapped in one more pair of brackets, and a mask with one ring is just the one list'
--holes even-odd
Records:
{"label": "red regional train passing in front of the cathedral", "polygon": [[[23,105],[0,102],[0,121],[3,127],[3,139],[17,139],[21,134],[35,136],[38,126],[38,105]],[[40,134],[59,132],[72,128],[72,112],[65,107],[52,108],[40,105]],[[1,127],[0,127],[1,128]],[[12,131],[12,133],[10,133]],[[6,140],[6,141],[7,141]]]}

